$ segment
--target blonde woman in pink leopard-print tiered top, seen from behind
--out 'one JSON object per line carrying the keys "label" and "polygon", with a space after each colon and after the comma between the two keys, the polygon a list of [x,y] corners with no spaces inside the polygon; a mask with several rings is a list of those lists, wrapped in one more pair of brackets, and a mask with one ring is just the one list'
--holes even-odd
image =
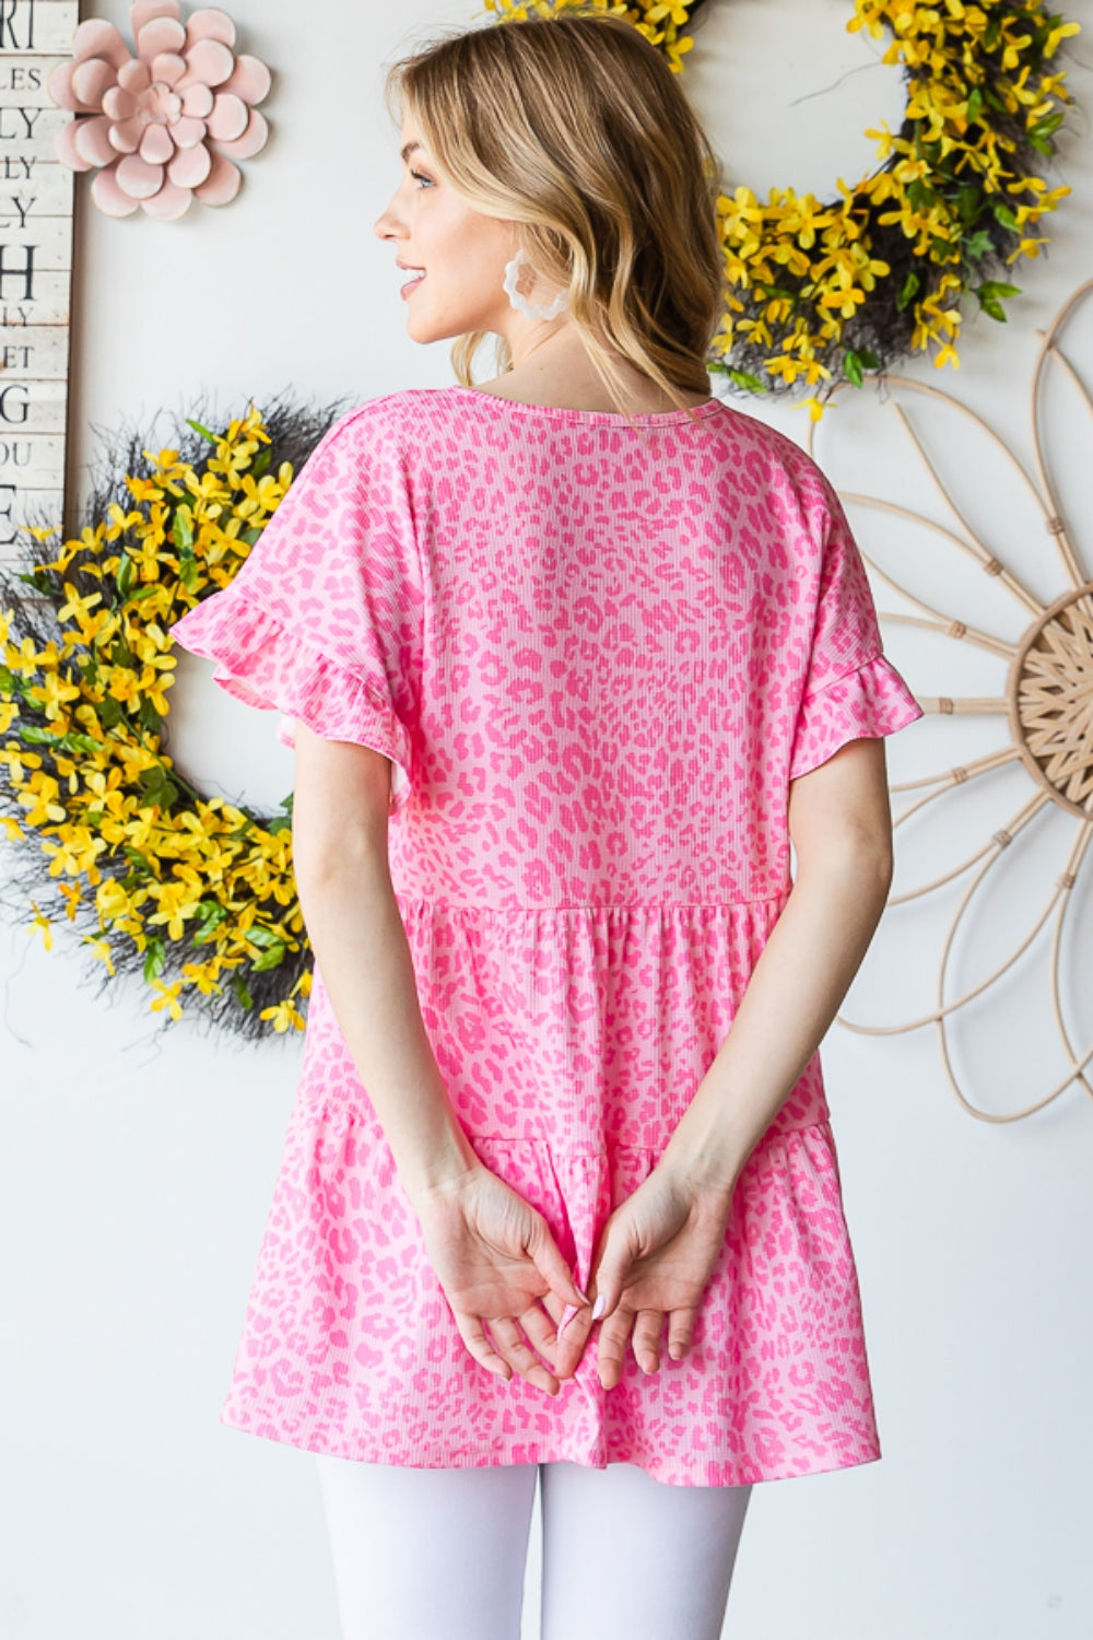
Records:
{"label": "blonde woman in pink leopard-print tiered top, seen from behind", "polygon": [[829,482],[710,394],[659,52],[565,11],[388,89],[459,385],[341,417],[174,628],[282,713],[316,959],[221,1417],[320,1455],[347,1640],[513,1640],[536,1481],[546,1640],[713,1640],[754,1483],[880,1456],[816,1046],[921,712]]}

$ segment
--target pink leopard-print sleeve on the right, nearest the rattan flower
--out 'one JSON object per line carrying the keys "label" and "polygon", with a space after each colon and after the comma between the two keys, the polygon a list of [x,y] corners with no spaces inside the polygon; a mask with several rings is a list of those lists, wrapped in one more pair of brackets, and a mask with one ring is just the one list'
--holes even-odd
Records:
{"label": "pink leopard-print sleeve on the right, nearest the rattan flower", "polygon": [[882,653],[865,563],[839,497],[816,469],[821,490],[819,571],[811,649],[793,731],[790,779],[864,736],[891,735],[923,717],[908,684]]}

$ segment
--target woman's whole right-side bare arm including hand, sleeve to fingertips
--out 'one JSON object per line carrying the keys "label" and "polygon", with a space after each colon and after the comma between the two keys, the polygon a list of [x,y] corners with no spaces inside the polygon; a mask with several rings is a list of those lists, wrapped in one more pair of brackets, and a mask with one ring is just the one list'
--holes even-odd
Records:
{"label": "woman's whole right-side bare arm including hand, sleeve to fingertips", "polygon": [[[891,884],[891,813],[883,740],[855,740],[790,786],[798,871],[752,969],[729,1035],[667,1146],[608,1219],[588,1281],[603,1301],[596,1371],[618,1384],[631,1342],[639,1366],[678,1360],[714,1261],[736,1181],[831,1025],[865,954]],[[590,1333],[582,1310],[554,1369],[574,1371]]]}

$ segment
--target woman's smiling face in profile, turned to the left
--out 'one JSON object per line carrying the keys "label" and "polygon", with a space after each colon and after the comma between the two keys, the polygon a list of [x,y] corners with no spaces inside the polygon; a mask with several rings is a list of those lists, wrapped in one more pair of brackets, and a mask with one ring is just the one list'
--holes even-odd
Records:
{"label": "woman's smiling face in profile, turned to the left", "polygon": [[[398,280],[410,308],[410,336],[428,343],[483,330],[513,343],[524,331],[557,328],[560,320],[546,326],[516,312],[503,289],[505,264],[516,249],[515,225],[474,210],[441,179],[410,115],[400,143],[403,177],[377,218],[375,233],[393,241],[405,267]],[[410,269],[424,269],[424,277]],[[528,282],[529,274],[521,269],[519,289],[528,289]],[[537,302],[547,297],[531,294]]]}

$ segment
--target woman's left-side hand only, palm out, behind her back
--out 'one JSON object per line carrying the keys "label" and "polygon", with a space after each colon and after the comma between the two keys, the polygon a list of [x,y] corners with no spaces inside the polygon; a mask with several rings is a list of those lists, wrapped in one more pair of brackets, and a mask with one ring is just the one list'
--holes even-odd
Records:
{"label": "woman's left-side hand only, palm out, behind her back", "polygon": [[[519,1373],[556,1396],[559,1374],[531,1348],[554,1361],[557,1333],[539,1299],[549,1297],[559,1315],[565,1305],[587,1315],[588,1301],[574,1284],[542,1214],[483,1163],[451,1184],[416,1192],[413,1205],[429,1261],[475,1361],[498,1378]],[[497,1350],[483,1322],[490,1323]]]}

